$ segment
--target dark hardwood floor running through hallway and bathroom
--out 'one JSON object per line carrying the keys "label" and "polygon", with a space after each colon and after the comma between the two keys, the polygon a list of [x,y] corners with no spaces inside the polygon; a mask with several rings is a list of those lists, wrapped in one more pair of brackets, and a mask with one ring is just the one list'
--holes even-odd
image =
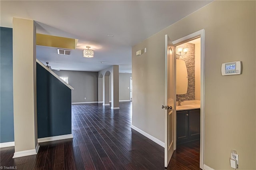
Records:
{"label": "dark hardwood floor running through hallway and bathroom", "polygon": [[[0,149],[0,166],[18,170],[164,170],[164,148],[132,130],[131,103],[72,105],[73,139],[40,143],[37,155],[12,158]],[[198,170],[199,141],[177,146],[168,170]],[[3,168],[4,169],[4,168]]]}

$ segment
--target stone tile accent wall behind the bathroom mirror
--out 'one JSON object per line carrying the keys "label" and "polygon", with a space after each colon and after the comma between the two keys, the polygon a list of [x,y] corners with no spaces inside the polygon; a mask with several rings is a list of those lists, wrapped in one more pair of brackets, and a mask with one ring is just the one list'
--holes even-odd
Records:
{"label": "stone tile accent wall behind the bathroom mirror", "polygon": [[188,70],[188,92],[184,95],[176,95],[176,100],[195,100],[195,44],[184,43],[178,45],[178,47],[188,47],[188,52],[180,56],[180,59],[185,61]]}

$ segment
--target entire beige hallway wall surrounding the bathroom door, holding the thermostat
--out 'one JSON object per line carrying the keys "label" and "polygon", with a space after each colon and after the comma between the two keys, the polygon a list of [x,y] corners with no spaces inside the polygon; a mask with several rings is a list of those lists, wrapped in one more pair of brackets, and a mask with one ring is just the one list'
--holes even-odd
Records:
{"label": "entire beige hallway wall surrounding the bathroom door, holding the thermostat", "polygon": [[[177,40],[205,29],[204,164],[256,169],[255,1],[214,1],[132,47],[132,125],[164,141],[164,35]],[[147,53],[136,51],[147,47]],[[228,52],[227,52],[228,50]],[[221,75],[221,64],[242,61],[241,75]]]}

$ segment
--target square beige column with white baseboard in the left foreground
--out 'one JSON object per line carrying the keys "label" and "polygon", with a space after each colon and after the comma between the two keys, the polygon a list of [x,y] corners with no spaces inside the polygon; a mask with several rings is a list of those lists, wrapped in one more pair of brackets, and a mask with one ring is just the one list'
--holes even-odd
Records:
{"label": "square beige column with white baseboard in the left foreground", "polygon": [[37,154],[36,26],[13,18],[13,158]]}

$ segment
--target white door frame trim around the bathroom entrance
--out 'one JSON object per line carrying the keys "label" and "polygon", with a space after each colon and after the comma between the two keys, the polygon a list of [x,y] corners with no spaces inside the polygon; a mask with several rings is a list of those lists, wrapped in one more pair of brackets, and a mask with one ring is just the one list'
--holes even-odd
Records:
{"label": "white door frame trim around the bathroom entrance", "polygon": [[[173,41],[172,43],[177,46],[180,45],[182,43],[185,42],[189,42],[192,39],[195,38],[201,38],[201,56],[200,56],[200,168],[204,169],[204,85],[205,85],[205,70],[204,70],[204,59],[205,59],[205,55],[204,55],[204,47],[205,47],[205,36],[204,36],[204,29],[199,30],[197,32],[194,32],[192,34],[189,34],[188,36],[184,36],[178,40]],[[176,67],[176,66],[175,66]],[[175,92],[176,93],[176,92]],[[176,115],[174,115],[175,119],[174,119],[174,150],[176,150]]]}

